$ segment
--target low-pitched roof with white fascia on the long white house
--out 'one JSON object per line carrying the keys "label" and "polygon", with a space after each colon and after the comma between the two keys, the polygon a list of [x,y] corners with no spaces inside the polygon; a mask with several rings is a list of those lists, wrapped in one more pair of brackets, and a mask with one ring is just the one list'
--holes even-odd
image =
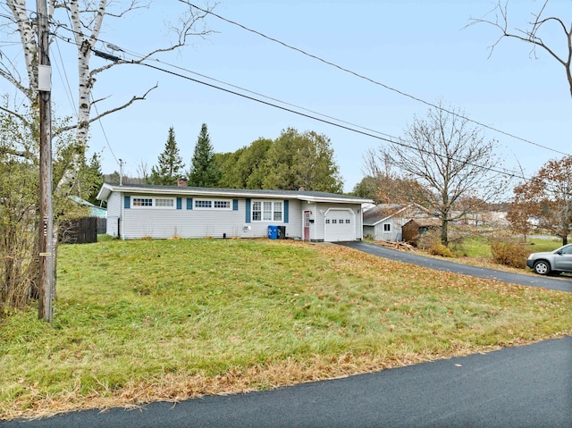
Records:
{"label": "low-pitched roof with white fascia on the long white house", "polygon": [[341,204],[372,203],[364,197],[350,197],[336,193],[315,192],[309,190],[263,190],[263,189],[216,189],[193,188],[187,186],[154,186],[147,184],[104,183],[97,194],[97,199],[106,201],[113,192],[145,195],[177,195],[208,197],[265,197],[271,199],[299,199],[308,202],[330,202]]}

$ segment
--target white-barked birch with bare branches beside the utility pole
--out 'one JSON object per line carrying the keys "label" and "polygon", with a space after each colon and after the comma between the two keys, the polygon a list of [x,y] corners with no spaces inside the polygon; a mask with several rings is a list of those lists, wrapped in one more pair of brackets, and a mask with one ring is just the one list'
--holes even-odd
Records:
{"label": "white-barked birch with bare branches beside the utility pole", "polygon": [[[2,4],[3,3],[3,4]],[[0,28],[3,29],[3,37],[16,36],[21,44],[23,55],[23,63],[25,72],[18,69],[17,64],[13,62],[7,55],[1,55],[0,52],[0,78],[7,80],[25,97],[29,105],[34,107],[37,105],[38,99],[38,41],[36,38],[36,23],[34,20],[34,12],[27,7],[25,0],[4,0],[0,3],[4,10],[9,13],[9,17],[3,18],[5,15],[0,14]],[[146,99],[149,92],[156,89],[156,85],[150,85],[142,94],[134,95],[128,100],[124,100],[112,108],[101,113],[93,114],[92,107],[101,99],[93,99],[92,92],[97,84],[97,75],[104,71],[109,71],[116,66],[125,66],[126,64],[137,65],[144,63],[148,59],[155,58],[165,52],[173,51],[189,42],[191,37],[204,38],[210,33],[205,27],[205,16],[207,12],[199,11],[189,4],[185,11],[180,13],[173,8],[173,13],[178,19],[177,25],[169,25],[169,29],[174,35],[174,41],[166,43],[164,47],[159,47],[147,52],[138,59],[123,59],[115,55],[107,55],[108,59],[113,61],[106,63],[104,66],[92,67],[92,57],[97,53],[97,45],[99,41],[104,21],[120,20],[126,18],[130,13],[146,8],[150,3],[139,0],[48,0],[48,19],[52,23],[53,37],[71,38],[76,50],[76,67],[78,72],[78,102],[77,118],[68,128],[59,130],[75,131],[76,153],[78,154],[75,162],[71,167],[78,169],[80,167],[80,156],[85,154],[88,147],[88,131],[89,125],[102,117],[118,112],[133,103]],[[206,9],[207,11],[210,9]],[[58,13],[62,14],[62,21],[58,21]],[[71,21],[71,33],[68,30],[63,34],[66,25],[64,22]],[[53,40],[53,38],[52,38]],[[101,46],[101,45],[99,45]],[[121,50],[118,46],[106,45],[112,50]],[[11,109],[5,109],[7,113],[17,114]],[[70,174],[66,174],[63,180],[69,179]],[[63,182],[59,183],[60,186]]]}

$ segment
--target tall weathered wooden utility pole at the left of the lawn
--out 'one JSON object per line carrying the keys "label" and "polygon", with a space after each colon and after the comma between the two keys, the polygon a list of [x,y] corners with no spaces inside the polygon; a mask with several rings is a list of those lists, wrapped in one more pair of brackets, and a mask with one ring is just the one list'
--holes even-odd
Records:
{"label": "tall weathered wooden utility pole at the left of the lawn", "polygon": [[54,321],[54,209],[52,207],[52,108],[49,31],[46,0],[36,0],[38,13],[39,104],[39,297],[38,319]]}

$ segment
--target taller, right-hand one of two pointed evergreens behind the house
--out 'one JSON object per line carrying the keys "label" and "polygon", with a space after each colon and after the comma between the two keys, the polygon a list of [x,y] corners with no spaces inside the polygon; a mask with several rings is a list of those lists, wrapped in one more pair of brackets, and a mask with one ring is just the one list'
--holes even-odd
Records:
{"label": "taller, right-hand one of two pointed evergreens behind the house", "polygon": [[191,160],[189,186],[214,188],[218,186],[219,180],[221,180],[221,172],[216,165],[214,148],[208,130],[206,130],[206,123],[203,123]]}

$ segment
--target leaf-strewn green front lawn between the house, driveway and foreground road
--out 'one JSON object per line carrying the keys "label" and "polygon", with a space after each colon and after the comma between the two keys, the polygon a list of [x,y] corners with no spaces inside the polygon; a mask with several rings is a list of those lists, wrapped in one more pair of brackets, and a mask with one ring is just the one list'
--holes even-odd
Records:
{"label": "leaf-strewn green front lawn between the house, driveway and foreground road", "polygon": [[572,293],[268,239],[62,246],[0,321],[0,418],[268,389],[572,332]]}

